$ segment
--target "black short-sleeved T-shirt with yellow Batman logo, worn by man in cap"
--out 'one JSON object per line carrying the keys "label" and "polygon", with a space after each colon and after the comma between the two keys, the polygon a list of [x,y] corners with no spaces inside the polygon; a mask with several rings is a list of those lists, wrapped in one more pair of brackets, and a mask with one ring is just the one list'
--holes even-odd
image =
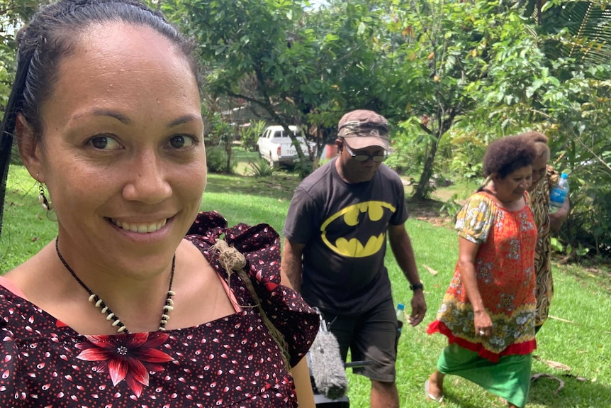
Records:
{"label": "black short-sleeved T-shirt with yellow Batman logo, worn by man in cap", "polygon": [[360,314],[391,299],[384,267],[388,224],[408,219],[399,176],[381,165],[369,182],[349,184],[335,158],[297,187],[284,236],[305,244],[301,295],[311,306]]}

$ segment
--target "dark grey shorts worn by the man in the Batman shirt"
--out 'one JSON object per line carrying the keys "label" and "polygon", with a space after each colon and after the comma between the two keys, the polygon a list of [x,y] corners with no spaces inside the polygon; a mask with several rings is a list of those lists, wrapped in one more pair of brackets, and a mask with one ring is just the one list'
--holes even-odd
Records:
{"label": "dark grey shorts worn by the man in the Batman shirt", "polygon": [[397,315],[392,301],[383,302],[358,316],[323,311],[327,329],[337,337],[344,361],[350,350],[352,362],[371,361],[371,365],[352,368],[354,374],[371,380],[395,382],[397,360]]}

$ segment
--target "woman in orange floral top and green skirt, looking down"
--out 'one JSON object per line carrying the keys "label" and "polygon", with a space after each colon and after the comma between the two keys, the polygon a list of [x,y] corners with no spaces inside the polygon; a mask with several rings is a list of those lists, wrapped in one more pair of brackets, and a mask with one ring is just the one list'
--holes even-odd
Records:
{"label": "woman in orange floral top and green skirt, looking down", "polygon": [[437,370],[425,382],[427,399],[443,400],[447,374],[460,375],[524,407],[534,340],[534,250],[537,226],[527,189],[532,140],[495,140],[483,159],[488,184],[456,217],[459,259],[427,333],[447,336]]}

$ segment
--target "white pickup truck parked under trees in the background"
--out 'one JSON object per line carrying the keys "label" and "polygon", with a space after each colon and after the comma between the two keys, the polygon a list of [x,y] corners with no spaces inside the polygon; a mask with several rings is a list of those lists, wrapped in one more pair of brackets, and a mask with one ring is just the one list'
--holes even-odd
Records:
{"label": "white pickup truck parked under trees in the background", "polygon": [[[288,128],[291,129],[293,134],[297,134],[297,126],[288,126]],[[306,144],[303,134],[298,136],[297,140],[301,142],[301,150],[307,157],[309,153],[308,144]],[[310,143],[310,148],[314,146],[314,143]],[[259,156],[276,167],[279,165],[292,166],[299,160],[293,140],[282,126],[268,126],[257,140],[257,149],[259,150]]]}

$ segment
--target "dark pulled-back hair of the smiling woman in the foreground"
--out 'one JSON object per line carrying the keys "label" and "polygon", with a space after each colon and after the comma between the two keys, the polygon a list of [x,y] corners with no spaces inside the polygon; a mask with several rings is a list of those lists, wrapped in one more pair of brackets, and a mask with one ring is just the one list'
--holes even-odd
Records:
{"label": "dark pulled-back hair of the smiling woman in the foreground", "polygon": [[79,38],[96,24],[123,22],[151,28],[174,43],[189,60],[199,83],[194,42],[185,38],[164,16],[137,0],[62,0],[45,6],[17,35],[17,72],[0,126],[0,232],[6,177],[18,114],[43,135],[40,107],[50,97],[62,60],[74,53]]}

